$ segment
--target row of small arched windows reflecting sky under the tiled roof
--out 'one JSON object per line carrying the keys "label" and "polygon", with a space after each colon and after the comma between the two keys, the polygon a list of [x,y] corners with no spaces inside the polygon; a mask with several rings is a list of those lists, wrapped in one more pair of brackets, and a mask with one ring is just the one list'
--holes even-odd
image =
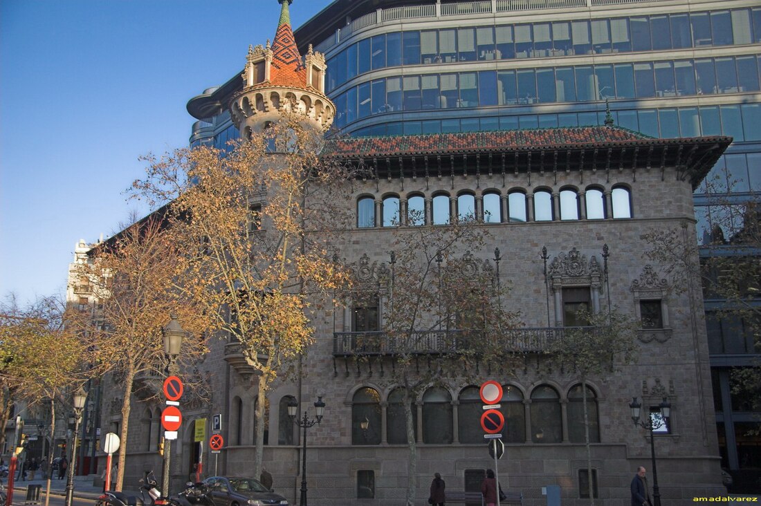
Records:
{"label": "row of small arched windows reflecting sky under the tiled roof", "polygon": [[533,193],[514,189],[505,194],[487,190],[480,195],[463,192],[457,196],[439,192],[431,197],[410,193],[406,198],[388,194],[382,199],[368,195],[357,200],[358,228],[449,224],[455,219],[521,223],[607,218],[632,218],[629,187],[616,185],[607,190],[602,186],[587,186],[580,191],[564,186],[557,193],[548,188],[536,189]]}

